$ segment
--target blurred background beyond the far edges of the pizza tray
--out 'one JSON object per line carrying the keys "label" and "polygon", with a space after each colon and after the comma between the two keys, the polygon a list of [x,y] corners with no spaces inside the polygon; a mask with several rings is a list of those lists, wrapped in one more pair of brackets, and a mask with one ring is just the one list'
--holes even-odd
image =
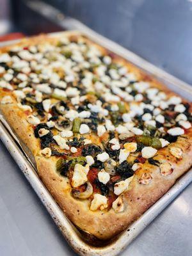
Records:
{"label": "blurred background beyond the far edges of the pizza tray", "polygon": [[65,17],[192,84],[192,0],[0,0],[0,35],[69,29]]}

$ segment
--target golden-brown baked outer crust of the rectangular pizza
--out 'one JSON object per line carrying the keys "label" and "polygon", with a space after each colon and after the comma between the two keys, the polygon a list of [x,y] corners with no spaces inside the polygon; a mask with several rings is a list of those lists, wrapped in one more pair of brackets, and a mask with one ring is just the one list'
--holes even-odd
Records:
{"label": "golden-brown baked outer crust of the rectangular pizza", "polygon": [[[26,44],[26,42],[27,44],[41,43],[45,38],[46,40],[54,41],[54,38],[47,39],[46,36],[40,36],[24,40],[20,44]],[[6,52],[8,49],[10,48],[4,47],[1,51]],[[106,50],[102,49],[102,51]],[[142,77],[144,81],[149,78],[131,63],[127,63],[127,61],[119,57],[116,57],[116,61],[124,62],[129,69],[139,77]],[[150,83],[156,88],[163,89],[168,95],[175,95],[175,93],[171,92],[153,77],[150,77]],[[0,88],[0,100],[4,95],[12,95],[12,93],[4,92]],[[56,157],[45,159],[39,155],[39,141],[34,136],[33,127],[26,120],[27,115],[19,109],[16,100],[14,100],[13,104],[0,104],[0,109],[17,136],[35,156],[40,179],[49,189],[63,212],[77,227],[90,232],[99,239],[110,239],[127,228],[132,221],[139,218],[143,212],[161,198],[173,186],[175,180],[189,170],[192,164],[192,129],[189,129],[187,134],[180,136],[175,143],[170,143],[168,147],[158,150],[156,157],[154,157],[159,163],[168,162],[172,164],[173,172],[170,175],[162,175],[159,166],[154,166],[146,161],[142,168],[136,171],[129,190],[122,194],[125,204],[124,212],[116,213],[112,208],[109,211],[93,212],[90,211],[90,200],[77,200],[71,195],[68,179],[61,177],[56,172]],[[182,149],[182,159],[177,159],[170,154],[171,147]],[[147,185],[140,184],[140,178],[143,173],[149,173],[152,182],[149,182]]]}

